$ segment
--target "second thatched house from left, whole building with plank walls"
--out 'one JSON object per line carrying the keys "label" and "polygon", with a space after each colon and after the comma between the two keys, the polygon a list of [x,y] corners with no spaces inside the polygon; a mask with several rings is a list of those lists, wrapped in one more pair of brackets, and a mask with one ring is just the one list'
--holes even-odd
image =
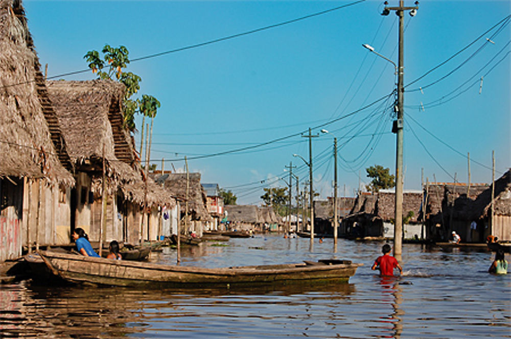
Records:
{"label": "second thatched house from left, whole building with plank walls", "polygon": [[152,179],[147,185],[143,180],[133,138],[123,127],[124,85],[111,80],[49,81],[48,91],[76,167],[69,231],[81,227],[91,239],[99,239],[104,194],[104,241],[155,240],[158,207],[174,206],[175,200]]}

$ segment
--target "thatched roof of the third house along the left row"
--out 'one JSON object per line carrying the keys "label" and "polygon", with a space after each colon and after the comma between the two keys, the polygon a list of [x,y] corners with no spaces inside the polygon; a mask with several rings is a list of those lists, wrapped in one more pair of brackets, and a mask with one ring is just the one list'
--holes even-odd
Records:
{"label": "thatched roof of the third house along the left row", "polygon": [[[187,198],[187,174],[166,173],[164,175],[151,175],[158,184],[164,183],[164,188],[174,198],[182,200],[181,213],[185,212]],[[200,173],[189,174],[188,210],[195,214],[198,220],[212,220],[206,208],[206,193],[200,184]]]}

